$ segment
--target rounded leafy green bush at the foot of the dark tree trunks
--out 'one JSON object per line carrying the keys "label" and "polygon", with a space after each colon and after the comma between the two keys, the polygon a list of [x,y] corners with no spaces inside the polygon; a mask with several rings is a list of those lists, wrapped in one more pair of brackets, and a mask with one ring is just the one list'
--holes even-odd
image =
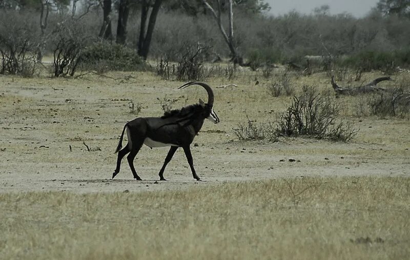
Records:
{"label": "rounded leafy green bush at the foot of the dark tree trunks", "polygon": [[[137,71],[147,68],[144,60],[134,49],[107,41],[87,47],[79,62],[83,68],[97,70]],[[101,64],[104,68],[101,68]]]}

